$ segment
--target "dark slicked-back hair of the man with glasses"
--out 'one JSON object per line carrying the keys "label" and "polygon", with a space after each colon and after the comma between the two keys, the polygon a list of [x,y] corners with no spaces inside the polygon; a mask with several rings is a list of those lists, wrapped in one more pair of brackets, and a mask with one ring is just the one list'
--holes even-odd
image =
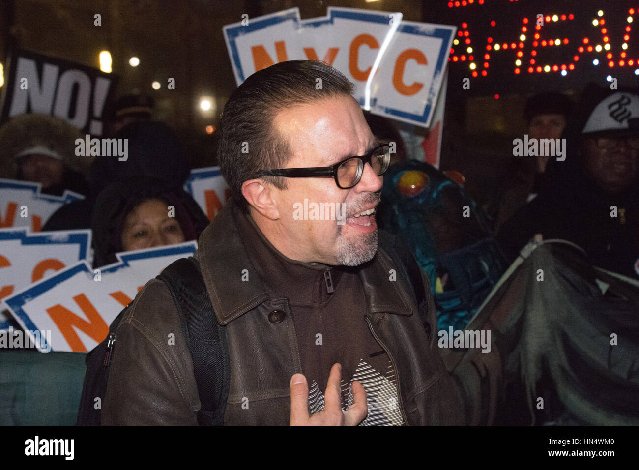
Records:
{"label": "dark slicked-back hair of the man with glasses", "polygon": [[[233,199],[244,212],[249,203],[242,195],[243,182],[259,170],[284,168],[293,156],[288,136],[275,129],[276,114],[291,106],[351,96],[353,88],[339,70],[323,62],[295,60],[259,70],[233,91],[220,119],[218,158]],[[262,179],[286,189],[282,176]]]}

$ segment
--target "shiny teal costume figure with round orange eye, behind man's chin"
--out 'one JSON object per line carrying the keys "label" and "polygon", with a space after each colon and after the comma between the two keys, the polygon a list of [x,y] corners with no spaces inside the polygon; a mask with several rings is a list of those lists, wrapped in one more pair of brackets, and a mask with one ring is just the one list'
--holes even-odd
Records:
{"label": "shiny teal costume figure with round orange eye, behind man's chin", "polygon": [[[423,186],[401,188],[407,171],[422,175]],[[410,188],[415,192],[406,193]],[[468,215],[460,217],[465,207]],[[408,160],[385,173],[375,217],[380,228],[406,243],[428,276],[437,330],[463,330],[507,267],[481,205],[438,169]],[[442,239],[450,244],[441,244]],[[448,282],[438,292],[444,275]]]}

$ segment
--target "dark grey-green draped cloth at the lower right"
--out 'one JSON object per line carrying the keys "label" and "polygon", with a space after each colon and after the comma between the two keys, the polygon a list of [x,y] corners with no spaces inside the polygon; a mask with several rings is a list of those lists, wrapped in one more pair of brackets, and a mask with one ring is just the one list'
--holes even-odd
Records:
{"label": "dark grey-green draped cloth at the lower right", "polygon": [[528,244],[466,329],[493,345],[444,351],[468,423],[639,425],[639,288],[574,244]]}

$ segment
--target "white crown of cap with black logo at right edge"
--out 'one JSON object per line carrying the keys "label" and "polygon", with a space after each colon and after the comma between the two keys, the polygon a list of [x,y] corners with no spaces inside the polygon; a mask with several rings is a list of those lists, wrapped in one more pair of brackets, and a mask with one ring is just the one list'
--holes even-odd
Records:
{"label": "white crown of cap with black logo at right edge", "polygon": [[639,95],[617,92],[592,110],[581,134],[639,134]]}

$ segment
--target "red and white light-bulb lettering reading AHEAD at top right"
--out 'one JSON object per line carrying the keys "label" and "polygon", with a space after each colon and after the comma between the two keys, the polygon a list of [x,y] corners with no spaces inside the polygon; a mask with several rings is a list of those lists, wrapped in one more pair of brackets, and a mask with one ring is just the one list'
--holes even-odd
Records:
{"label": "red and white light-bulb lettering reading AHEAD at top right", "polygon": [[[495,51],[501,63],[504,58],[507,58],[507,63],[511,64],[509,67],[512,67],[512,73],[515,75],[526,70],[529,74],[557,73],[565,77],[568,72],[583,70],[585,67],[596,67],[600,64],[608,64],[608,67],[633,68],[635,74],[639,74],[637,72],[639,69],[636,68],[636,64],[639,64],[637,47],[639,38],[632,37],[631,34],[633,19],[639,14],[639,8],[622,10],[619,21],[613,22],[610,28],[606,24],[606,10],[599,8],[577,11],[577,15],[570,11],[557,11],[558,8],[562,8],[561,5],[550,7],[555,12],[535,11],[534,14],[528,8],[525,12],[528,15],[522,14],[519,19],[520,26],[516,28],[519,31],[518,34],[513,36],[512,28],[507,27],[513,21],[500,19],[498,24],[497,17],[490,18],[486,10],[498,8],[501,4],[512,5],[517,2],[518,0],[492,0],[484,4],[481,0],[447,1],[449,8],[455,9],[460,15],[468,15],[465,21],[459,22],[458,36],[465,40],[464,42],[454,41],[450,49],[451,65],[459,67],[461,62],[466,60],[466,54],[471,54],[474,49],[482,52]],[[601,2],[605,3],[605,0]],[[636,0],[636,3],[639,6],[639,0]],[[522,2],[522,8],[526,7],[527,5]],[[616,12],[608,10],[609,15],[613,13],[619,15],[619,10]],[[537,15],[540,14],[538,20]],[[473,20],[481,23],[473,24]],[[621,25],[621,30],[617,24]],[[473,35],[473,29],[475,29],[473,26],[488,34],[484,38]],[[509,32],[500,35],[500,26],[503,26],[504,30],[508,29]],[[549,56],[546,52],[547,48],[556,52]],[[491,73],[493,75],[504,73],[500,67],[494,70],[490,67],[495,54],[484,56],[482,77],[491,77]],[[584,60],[580,61],[580,59]],[[525,65],[523,69],[520,68],[522,64]],[[472,59],[468,67],[471,69],[476,67]],[[479,77],[479,74],[472,75]]]}

